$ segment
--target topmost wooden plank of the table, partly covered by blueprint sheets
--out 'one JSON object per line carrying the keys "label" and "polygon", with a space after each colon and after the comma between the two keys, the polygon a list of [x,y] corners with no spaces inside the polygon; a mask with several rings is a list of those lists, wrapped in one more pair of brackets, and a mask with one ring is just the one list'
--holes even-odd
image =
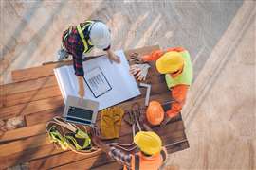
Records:
{"label": "topmost wooden plank of the table, partly covered by blueprint sheets", "polygon": [[[159,49],[158,45],[155,46],[146,46],[138,49],[132,49],[125,51],[126,57],[129,57],[129,55],[132,52],[137,52],[139,54],[148,54],[153,50]],[[72,61],[61,61],[61,62],[53,62],[51,64],[46,64],[43,66],[33,67],[33,68],[27,68],[27,69],[21,69],[21,70],[15,70],[12,71],[12,81],[13,82],[20,82],[25,81],[29,79],[36,79],[39,77],[44,76],[51,76],[53,75],[53,69],[55,67],[59,67],[61,65],[71,64]]]}

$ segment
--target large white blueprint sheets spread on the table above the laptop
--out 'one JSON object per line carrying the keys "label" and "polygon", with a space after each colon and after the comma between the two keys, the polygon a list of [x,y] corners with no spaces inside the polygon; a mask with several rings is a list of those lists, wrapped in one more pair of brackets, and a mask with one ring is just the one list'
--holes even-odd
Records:
{"label": "large white blueprint sheets spread on the table above the laptop", "polygon": [[[116,51],[121,63],[111,63],[106,57],[83,62],[85,99],[100,103],[99,110],[119,104],[140,95],[134,76],[129,73],[129,64],[122,50]],[[73,65],[54,69],[64,102],[68,95],[78,95],[78,80]]]}

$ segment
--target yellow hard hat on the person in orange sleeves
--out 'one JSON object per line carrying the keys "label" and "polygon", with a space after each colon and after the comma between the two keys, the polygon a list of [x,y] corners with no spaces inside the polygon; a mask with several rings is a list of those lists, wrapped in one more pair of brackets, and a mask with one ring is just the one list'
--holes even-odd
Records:
{"label": "yellow hard hat on the person in orange sleeves", "polygon": [[156,69],[160,74],[174,73],[184,64],[181,54],[175,51],[167,52],[156,60]]}

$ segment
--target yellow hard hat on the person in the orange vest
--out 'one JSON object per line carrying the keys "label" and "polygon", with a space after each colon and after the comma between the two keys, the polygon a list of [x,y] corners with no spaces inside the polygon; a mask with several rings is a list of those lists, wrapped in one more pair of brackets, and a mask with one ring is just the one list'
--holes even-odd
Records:
{"label": "yellow hard hat on the person in the orange vest", "polygon": [[155,155],[161,151],[162,140],[153,131],[139,131],[134,137],[137,147],[148,155]]}

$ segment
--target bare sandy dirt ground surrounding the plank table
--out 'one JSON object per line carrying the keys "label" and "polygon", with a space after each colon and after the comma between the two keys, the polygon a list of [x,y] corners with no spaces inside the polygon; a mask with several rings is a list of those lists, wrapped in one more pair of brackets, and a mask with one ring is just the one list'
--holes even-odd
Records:
{"label": "bare sandy dirt ground surrounding the plank table", "polygon": [[[56,60],[68,26],[101,19],[113,49],[183,46],[194,79],[182,111],[190,148],[166,169],[256,169],[255,1],[0,0],[0,84]],[[94,51],[92,54],[97,54]]]}

